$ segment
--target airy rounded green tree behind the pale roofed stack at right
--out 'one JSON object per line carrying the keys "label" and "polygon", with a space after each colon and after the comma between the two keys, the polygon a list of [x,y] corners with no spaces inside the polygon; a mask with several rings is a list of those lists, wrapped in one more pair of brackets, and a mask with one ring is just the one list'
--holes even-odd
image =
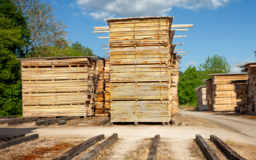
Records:
{"label": "airy rounded green tree behind the pale roofed stack at right", "polygon": [[210,58],[207,57],[205,63],[198,66],[198,71],[200,72],[199,79],[209,79],[212,76],[208,74],[223,74],[230,72],[230,65],[228,65],[227,60],[223,56],[214,55]]}

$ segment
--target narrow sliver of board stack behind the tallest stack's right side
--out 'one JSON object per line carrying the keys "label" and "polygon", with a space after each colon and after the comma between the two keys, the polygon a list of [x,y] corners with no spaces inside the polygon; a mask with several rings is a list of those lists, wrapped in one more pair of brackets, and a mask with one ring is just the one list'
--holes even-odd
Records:
{"label": "narrow sliver of board stack behind the tallest stack's right side", "polygon": [[172,74],[172,114],[178,114],[179,98],[178,98],[178,82],[179,82],[179,61],[174,60],[175,67]]}

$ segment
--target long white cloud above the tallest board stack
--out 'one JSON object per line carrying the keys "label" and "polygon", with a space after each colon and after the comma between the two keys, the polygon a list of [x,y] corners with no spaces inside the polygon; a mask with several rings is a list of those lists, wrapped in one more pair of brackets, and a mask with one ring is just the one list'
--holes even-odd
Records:
{"label": "long white cloud above the tallest board stack", "polygon": [[77,0],[76,4],[95,19],[116,17],[166,16],[173,7],[197,10],[217,9],[234,0]]}

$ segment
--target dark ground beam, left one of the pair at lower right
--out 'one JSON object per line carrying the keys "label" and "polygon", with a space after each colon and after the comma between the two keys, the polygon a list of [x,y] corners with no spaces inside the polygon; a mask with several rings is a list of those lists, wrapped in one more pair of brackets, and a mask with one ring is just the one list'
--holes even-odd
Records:
{"label": "dark ground beam, left one of the pair at lower right", "polygon": [[200,134],[196,134],[196,141],[199,143],[205,156],[207,156],[208,159],[220,160],[220,158],[216,155],[216,153],[212,150],[212,148],[208,145],[208,143],[204,140],[204,138],[202,138]]}

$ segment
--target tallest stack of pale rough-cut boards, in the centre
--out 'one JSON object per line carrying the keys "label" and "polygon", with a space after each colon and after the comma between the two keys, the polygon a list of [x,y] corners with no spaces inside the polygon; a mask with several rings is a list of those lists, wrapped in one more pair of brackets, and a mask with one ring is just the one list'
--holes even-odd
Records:
{"label": "tallest stack of pale rough-cut boards, in the centre", "polygon": [[174,67],[170,63],[172,18],[108,23],[111,122],[169,122]]}

